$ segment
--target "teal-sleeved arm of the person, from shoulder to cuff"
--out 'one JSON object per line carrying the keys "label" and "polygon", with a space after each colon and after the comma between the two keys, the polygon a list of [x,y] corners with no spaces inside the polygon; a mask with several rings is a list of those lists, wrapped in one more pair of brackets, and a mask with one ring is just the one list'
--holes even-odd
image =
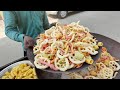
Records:
{"label": "teal-sleeved arm of the person, from shoulder to cuff", "polygon": [[5,34],[10,39],[23,42],[24,34],[20,34],[17,28],[17,17],[14,11],[4,11]]}

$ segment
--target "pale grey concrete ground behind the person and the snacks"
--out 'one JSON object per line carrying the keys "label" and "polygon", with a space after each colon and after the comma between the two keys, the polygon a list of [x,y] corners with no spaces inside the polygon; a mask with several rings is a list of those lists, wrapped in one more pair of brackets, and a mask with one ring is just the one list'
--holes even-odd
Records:
{"label": "pale grey concrete ground behind the person and the snacks", "polygon": [[[80,20],[91,32],[105,35],[120,42],[120,11],[84,11],[70,13],[65,19],[48,16],[50,22],[68,24]],[[4,35],[3,21],[0,23],[0,66],[23,57],[21,43],[10,40]]]}

